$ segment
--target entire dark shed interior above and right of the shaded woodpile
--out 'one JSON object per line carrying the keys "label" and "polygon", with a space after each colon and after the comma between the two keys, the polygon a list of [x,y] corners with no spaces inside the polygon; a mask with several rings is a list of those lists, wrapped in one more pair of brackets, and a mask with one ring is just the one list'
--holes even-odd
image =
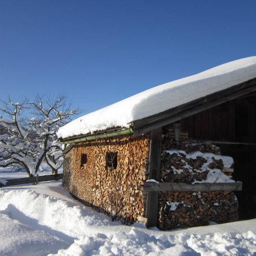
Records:
{"label": "entire dark shed interior above and right of the shaded woodpile", "polygon": [[243,191],[236,193],[240,217],[256,217],[256,96],[231,100],[185,118],[181,130],[188,131],[191,139],[223,141],[215,144],[223,155],[234,158],[234,179],[243,181]]}

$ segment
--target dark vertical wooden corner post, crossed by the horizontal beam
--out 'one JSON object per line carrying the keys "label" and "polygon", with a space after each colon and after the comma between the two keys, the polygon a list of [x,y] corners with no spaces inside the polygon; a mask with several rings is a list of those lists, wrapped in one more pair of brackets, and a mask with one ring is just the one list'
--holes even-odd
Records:
{"label": "dark vertical wooden corner post, crossed by the horizontal beam", "polygon": [[[149,179],[159,181],[161,166],[162,127],[152,130],[150,136]],[[148,191],[146,218],[148,218],[148,227],[157,226],[158,191]]]}

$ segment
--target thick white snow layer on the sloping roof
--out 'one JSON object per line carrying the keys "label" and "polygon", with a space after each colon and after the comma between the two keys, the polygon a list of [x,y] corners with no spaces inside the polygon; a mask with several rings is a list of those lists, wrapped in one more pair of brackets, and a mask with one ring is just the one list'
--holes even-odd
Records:
{"label": "thick white snow layer on the sloping roof", "polygon": [[256,57],[243,58],[199,74],[158,85],[77,118],[58,130],[59,138],[93,133],[151,116],[256,77]]}

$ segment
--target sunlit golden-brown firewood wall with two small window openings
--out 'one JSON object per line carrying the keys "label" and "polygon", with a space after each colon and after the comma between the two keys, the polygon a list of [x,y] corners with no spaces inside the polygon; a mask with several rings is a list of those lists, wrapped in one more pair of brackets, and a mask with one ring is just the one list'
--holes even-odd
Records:
{"label": "sunlit golden-brown firewood wall with two small window openings", "polygon": [[[149,135],[76,144],[65,156],[63,186],[76,198],[129,224],[145,216],[143,186],[148,179]],[[81,156],[87,162],[81,166]],[[117,166],[108,157],[117,156]]]}

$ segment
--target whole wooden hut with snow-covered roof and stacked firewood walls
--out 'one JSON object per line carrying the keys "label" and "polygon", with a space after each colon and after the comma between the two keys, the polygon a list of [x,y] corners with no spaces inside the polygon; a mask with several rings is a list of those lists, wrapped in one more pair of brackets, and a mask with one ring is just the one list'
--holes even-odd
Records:
{"label": "whole wooden hut with snow-covered roof and stacked firewood walls", "polygon": [[[128,224],[170,229],[236,220],[232,191],[242,183],[230,175],[244,181],[251,200],[256,194],[255,91],[250,57],[77,118],[58,131],[66,145],[63,186]],[[235,169],[223,164],[223,152],[234,157]],[[218,171],[225,182],[203,182]]]}

